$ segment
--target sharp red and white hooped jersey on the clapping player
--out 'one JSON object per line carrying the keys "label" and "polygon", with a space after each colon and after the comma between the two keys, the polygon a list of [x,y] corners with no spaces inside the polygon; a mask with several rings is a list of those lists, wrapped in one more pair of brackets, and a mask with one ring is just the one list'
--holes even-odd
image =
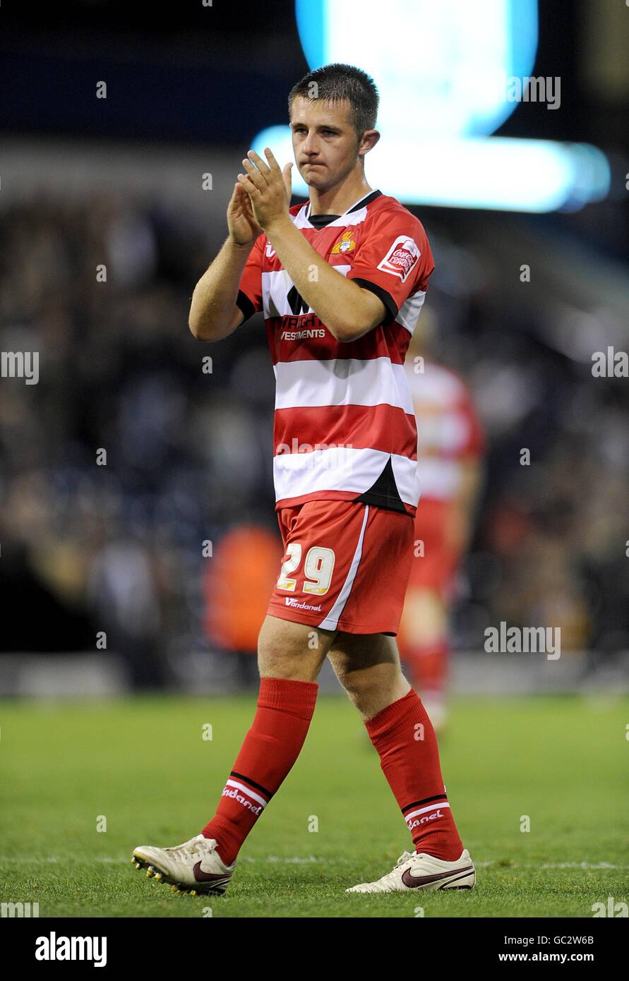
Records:
{"label": "sharp red and white hooped jersey on the clapping player", "polygon": [[360,500],[414,515],[417,428],[403,369],[435,263],[421,223],[379,190],[343,215],[289,209],[295,228],[341,276],[379,296],[383,322],[337,340],[297,293],[266,234],[236,303],[264,312],[276,376],[276,510],[313,498]]}

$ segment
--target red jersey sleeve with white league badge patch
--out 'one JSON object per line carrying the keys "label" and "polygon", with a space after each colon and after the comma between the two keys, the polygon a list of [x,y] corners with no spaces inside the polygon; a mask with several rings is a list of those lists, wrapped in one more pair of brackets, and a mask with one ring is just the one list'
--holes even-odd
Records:
{"label": "red jersey sleeve with white league badge patch", "polygon": [[383,301],[388,312],[383,324],[388,325],[409,296],[427,289],[434,270],[421,223],[408,211],[384,211],[365,229],[347,279]]}

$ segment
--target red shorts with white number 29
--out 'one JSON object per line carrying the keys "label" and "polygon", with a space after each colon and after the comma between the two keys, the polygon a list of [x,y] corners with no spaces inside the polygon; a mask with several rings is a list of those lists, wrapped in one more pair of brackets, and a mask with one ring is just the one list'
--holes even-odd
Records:
{"label": "red shorts with white number 29", "polygon": [[278,511],[285,555],[267,613],[348,634],[397,634],[413,554],[408,514],[346,500]]}

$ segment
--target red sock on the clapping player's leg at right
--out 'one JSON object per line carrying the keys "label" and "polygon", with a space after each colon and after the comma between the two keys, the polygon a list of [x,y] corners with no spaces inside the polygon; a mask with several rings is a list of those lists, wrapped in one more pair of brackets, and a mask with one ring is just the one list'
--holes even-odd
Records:
{"label": "red sock on the clapping player's leg at right", "polygon": [[365,726],[415,851],[458,858],[463,843],[447,802],[435,730],[420,698],[411,689]]}

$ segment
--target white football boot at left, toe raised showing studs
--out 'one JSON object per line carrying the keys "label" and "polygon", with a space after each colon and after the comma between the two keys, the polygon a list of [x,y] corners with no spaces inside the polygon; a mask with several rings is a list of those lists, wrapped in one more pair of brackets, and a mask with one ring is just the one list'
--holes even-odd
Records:
{"label": "white football boot at left, toe raised showing studs", "polygon": [[131,861],[135,868],[145,868],[149,879],[168,882],[174,893],[221,896],[230,883],[236,861],[226,865],[216,846],[216,839],[199,834],[172,849],[140,845],[134,849]]}

